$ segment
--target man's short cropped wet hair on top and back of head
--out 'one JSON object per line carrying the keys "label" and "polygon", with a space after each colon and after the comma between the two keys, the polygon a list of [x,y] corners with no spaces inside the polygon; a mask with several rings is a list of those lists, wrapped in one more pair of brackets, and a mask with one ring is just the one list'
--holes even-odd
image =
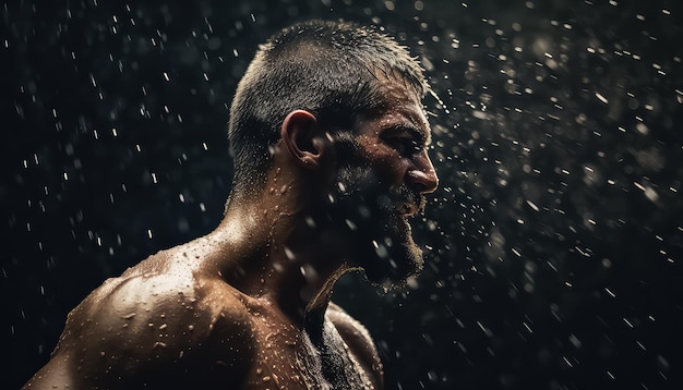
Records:
{"label": "man's short cropped wet hair on top and back of head", "polygon": [[428,90],[417,60],[376,27],[314,20],[272,36],[259,47],[230,107],[232,196],[263,188],[269,148],[289,112],[307,110],[331,133],[349,130],[358,115],[385,105],[382,76],[403,82],[419,98]]}

